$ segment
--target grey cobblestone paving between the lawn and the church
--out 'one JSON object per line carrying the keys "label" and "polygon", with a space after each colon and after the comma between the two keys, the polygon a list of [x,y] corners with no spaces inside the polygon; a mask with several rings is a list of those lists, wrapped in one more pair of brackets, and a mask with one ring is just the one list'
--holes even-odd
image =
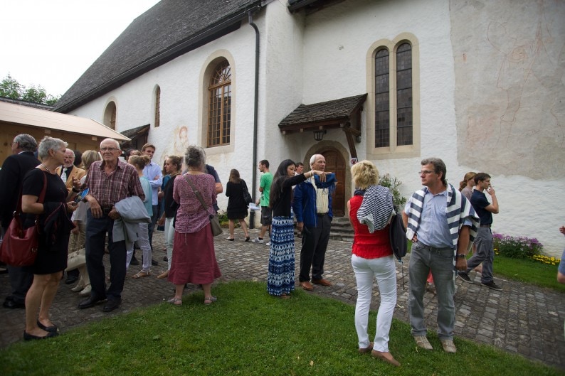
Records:
{"label": "grey cobblestone paving between the lawn and the church", "polygon": [[[252,238],[258,230],[250,230]],[[225,235],[225,234],[223,234]],[[219,281],[236,279],[264,282],[267,278],[268,246],[243,242],[241,230],[236,230],[236,241],[227,242],[226,236],[216,238],[216,257],[223,276]],[[61,281],[56,299],[51,308],[51,318],[61,331],[79,326],[85,322],[100,320],[108,316],[130,312],[142,306],[159,304],[166,297],[171,297],[173,288],[167,280],[157,279],[167,268],[163,232],[154,234],[154,256],[159,261],[153,267],[152,274],[142,279],[130,276],[140,267],[130,267],[122,294],[122,305],[111,313],[102,312],[102,305],[80,310],[78,302],[83,299],[70,291],[73,285]],[[300,239],[296,240],[297,262],[300,262]],[[137,252],[138,258],[140,254]],[[338,299],[346,304],[355,304],[357,297],[353,270],[350,262],[351,242],[330,240],[326,255],[324,277],[333,282],[332,287],[315,286],[312,294],[319,294]],[[107,256],[105,257],[108,265]],[[408,322],[408,257],[397,265],[398,304],[395,318]],[[107,270],[108,272],[108,270]],[[495,271],[496,272],[496,271]],[[404,287],[402,283],[404,274]],[[296,272],[298,274],[298,271]],[[455,292],[455,336],[467,338],[477,343],[494,345],[508,353],[523,355],[531,360],[539,360],[546,365],[565,369],[565,294],[550,289],[542,289],[516,281],[497,279],[503,291],[493,291],[480,285],[480,276],[471,272],[474,284],[456,281]],[[191,285],[189,285],[191,286]],[[0,275],[0,299],[9,294],[7,274]],[[189,287],[185,294],[196,291],[196,286]],[[265,292],[266,294],[266,292]],[[378,289],[371,309],[378,308]],[[221,296],[218,297],[221,299]],[[437,303],[432,293],[426,292],[426,323],[428,331],[435,331],[437,325]],[[0,347],[5,347],[22,338],[24,328],[24,310],[0,308]],[[353,318],[352,318],[352,331]]]}

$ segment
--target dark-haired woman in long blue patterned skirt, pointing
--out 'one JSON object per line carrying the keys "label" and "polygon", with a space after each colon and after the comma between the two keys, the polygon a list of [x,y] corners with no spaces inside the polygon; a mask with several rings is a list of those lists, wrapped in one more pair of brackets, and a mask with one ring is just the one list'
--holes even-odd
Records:
{"label": "dark-haired woman in long blue patterned skirt, pointing", "polygon": [[292,186],[314,175],[325,177],[323,171],[308,171],[295,176],[296,166],[286,159],[281,162],[270,188],[271,223],[269,272],[267,291],[270,295],[290,298],[295,289],[295,232],[292,220]]}

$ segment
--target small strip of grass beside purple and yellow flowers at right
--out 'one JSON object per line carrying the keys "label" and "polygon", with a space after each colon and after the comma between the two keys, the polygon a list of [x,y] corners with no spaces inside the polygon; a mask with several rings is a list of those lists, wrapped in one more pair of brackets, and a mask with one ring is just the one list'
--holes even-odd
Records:
{"label": "small strip of grass beside purple and yellow flowers at right", "polygon": [[544,264],[532,259],[511,259],[496,255],[492,267],[495,274],[505,276],[507,279],[565,292],[565,284],[557,282],[556,265]]}

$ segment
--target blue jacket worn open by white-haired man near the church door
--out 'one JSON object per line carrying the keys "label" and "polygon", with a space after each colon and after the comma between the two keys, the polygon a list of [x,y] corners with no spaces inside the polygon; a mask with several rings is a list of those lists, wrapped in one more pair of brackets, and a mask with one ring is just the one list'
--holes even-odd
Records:
{"label": "blue jacket worn open by white-haired man near the church door", "polygon": [[[316,186],[318,188],[328,188],[328,215],[334,217],[332,213],[332,195],[335,190],[335,174],[329,173],[326,181],[322,183],[318,176],[314,176]],[[316,208],[316,190],[312,186],[310,179],[303,181],[295,186],[294,199],[292,201],[292,210],[295,212],[296,221],[304,222],[306,227],[316,227],[317,225],[317,208]]]}

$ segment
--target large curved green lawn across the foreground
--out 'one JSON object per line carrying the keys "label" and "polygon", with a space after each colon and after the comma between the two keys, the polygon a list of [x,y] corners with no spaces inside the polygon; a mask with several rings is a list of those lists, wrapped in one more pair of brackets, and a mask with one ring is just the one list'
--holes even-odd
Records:
{"label": "large curved green lawn across the foreground", "polygon": [[[416,348],[394,321],[389,347],[401,367],[357,353],[354,307],[305,291],[268,296],[265,284],[236,281],[182,306],[163,303],[88,323],[57,338],[0,350],[7,375],[560,375],[555,368],[455,338],[457,354]],[[371,312],[369,333],[375,330]]]}

